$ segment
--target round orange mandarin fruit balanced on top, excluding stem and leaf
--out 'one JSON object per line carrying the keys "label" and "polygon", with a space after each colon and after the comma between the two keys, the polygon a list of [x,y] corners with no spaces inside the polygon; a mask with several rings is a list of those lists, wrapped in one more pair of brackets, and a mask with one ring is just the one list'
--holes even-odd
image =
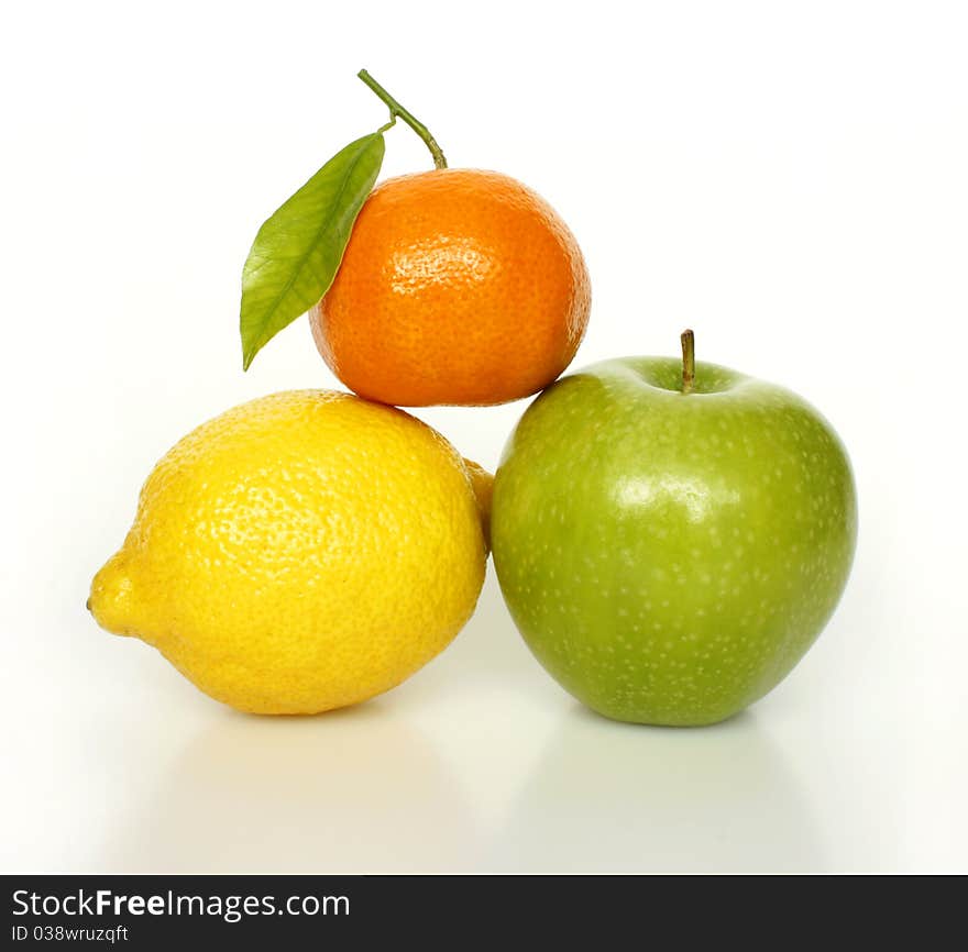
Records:
{"label": "round orange mandarin fruit balanced on top, excluding stem and leaf", "polygon": [[373,190],[310,324],[361,397],[483,406],[554,380],[590,306],[581,250],[548,202],[499,173],[443,168]]}

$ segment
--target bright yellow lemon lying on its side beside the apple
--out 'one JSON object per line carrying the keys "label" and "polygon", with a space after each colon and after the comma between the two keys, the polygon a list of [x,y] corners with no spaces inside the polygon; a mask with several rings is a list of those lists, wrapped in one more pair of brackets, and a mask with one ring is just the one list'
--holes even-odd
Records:
{"label": "bright yellow lemon lying on its side beside the apple", "polygon": [[402,410],[274,394],[202,424],[157,464],[88,606],[240,710],[356,704],[410,676],[470,618],[488,494],[487,474]]}

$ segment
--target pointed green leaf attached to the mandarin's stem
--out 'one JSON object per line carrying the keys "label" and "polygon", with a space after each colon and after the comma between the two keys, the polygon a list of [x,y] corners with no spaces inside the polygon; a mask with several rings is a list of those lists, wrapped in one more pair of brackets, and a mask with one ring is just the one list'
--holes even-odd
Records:
{"label": "pointed green leaf attached to the mandarin's stem", "polygon": [[242,369],[328,290],[380,175],[383,134],[338,152],[262,225],[242,269]]}

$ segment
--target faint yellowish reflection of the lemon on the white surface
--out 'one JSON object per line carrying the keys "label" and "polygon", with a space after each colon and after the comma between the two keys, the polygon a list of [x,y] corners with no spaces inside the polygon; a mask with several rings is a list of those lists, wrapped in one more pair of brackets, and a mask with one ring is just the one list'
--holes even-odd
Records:
{"label": "faint yellowish reflection of the lemon on the white surface", "polygon": [[460,789],[378,702],[318,718],[232,712],[193,740],[118,823],[118,872],[404,873],[473,852]]}

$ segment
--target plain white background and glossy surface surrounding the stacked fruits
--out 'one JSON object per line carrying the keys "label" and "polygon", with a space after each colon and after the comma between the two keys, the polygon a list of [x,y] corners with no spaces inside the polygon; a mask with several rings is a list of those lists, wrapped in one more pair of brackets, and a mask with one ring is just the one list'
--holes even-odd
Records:
{"label": "plain white background and glossy surface surrounding the stacked fruits", "polygon": [[[16,4],[0,31],[0,868],[968,871],[964,4]],[[241,372],[262,220],[380,125],[561,212],[574,366],[675,353],[834,422],[854,574],[791,677],[717,728],[615,724],[531,660],[493,571],[454,645],[311,719],[232,712],[100,631],[90,577],[154,462],[336,386],[305,320]],[[429,167],[399,125],[384,174]],[[525,403],[420,416],[493,467]]]}

